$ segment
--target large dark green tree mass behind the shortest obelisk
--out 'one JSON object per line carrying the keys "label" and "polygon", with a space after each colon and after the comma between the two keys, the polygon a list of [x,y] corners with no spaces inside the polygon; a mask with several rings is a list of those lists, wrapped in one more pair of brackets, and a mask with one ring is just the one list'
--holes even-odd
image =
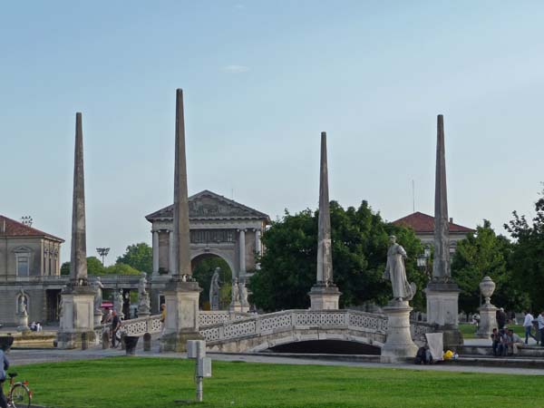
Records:
{"label": "large dark green tree mass behind the shortest obelisk", "polygon": [[[409,254],[406,271],[416,282],[414,306],[423,308],[422,288],[427,282],[416,267],[423,251],[412,230],[387,224],[366,201],[358,209],[343,209],[331,201],[331,228],[335,284],[342,292],[341,306],[365,302],[383,305],[392,297],[391,285],[384,282],[388,236],[394,234]],[[306,308],[307,293],[316,282],[318,212],[306,209],[295,215],[287,210],[283,219],[272,223],[263,235],[267,248],[259,259],[261,270],[249,283],[250,301],[267,311]]]}

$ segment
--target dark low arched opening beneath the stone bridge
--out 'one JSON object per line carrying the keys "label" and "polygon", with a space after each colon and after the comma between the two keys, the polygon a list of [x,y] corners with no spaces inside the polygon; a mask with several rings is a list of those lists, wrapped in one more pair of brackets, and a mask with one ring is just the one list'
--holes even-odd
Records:
{"label": "dark low arched opening beneath the stone bridge", "polygon": [[346,340],[307,340],[275,345],[266,351],[309,355],[380,355],[382,349],[376,345],[366,345]]}

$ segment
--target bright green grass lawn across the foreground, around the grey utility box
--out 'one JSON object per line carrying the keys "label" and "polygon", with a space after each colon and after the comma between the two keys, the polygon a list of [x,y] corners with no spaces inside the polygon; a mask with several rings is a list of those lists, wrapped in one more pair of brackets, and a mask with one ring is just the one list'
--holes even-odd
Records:
{"label": "bright green grass lawn across the foreground, around the grey utility box", "polygon": [[[114,357],[15,367],[34,403],[54,407],[175,407],[193,400],[194,362]],[[541,376],[325,365],[214,362],[200,407],[537,407]]]}

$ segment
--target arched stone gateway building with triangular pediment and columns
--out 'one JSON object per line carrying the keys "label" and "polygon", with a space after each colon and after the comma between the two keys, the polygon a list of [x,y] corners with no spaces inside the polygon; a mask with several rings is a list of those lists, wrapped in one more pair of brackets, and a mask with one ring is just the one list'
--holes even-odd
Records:
{"label": "arched stone gateway building with triangular pediment and columns", "polygon": [[[146,216],[153,235],[151,308],[158,310],[160,291],[174,270],[172,257],[173,206]],[[261,235],[270,218],[256,209],[227,199],[208,189],[189,197],[190,256],[195,267],[204,257],[221,257],[232,278],[245,283],[258,268],[256,256],[262,250]],[[208,288],[204,288],[208,290]]]}

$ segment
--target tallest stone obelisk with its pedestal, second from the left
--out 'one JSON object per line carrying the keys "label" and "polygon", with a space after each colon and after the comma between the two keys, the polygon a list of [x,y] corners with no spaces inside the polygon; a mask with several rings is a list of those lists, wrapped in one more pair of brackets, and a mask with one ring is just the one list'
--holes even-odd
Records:
{"label": "tallest stone obelisk with its pedestal, second from the left", "polygon": [[166,321],[160,337],[161,352],[184,352],[188,340],[199,335],[199,283],[192,279],[189,248],[189,194],[185,158],[185,121],[183,91],[176,91],[176,153],[174,170],[174,237],[175,269],[164,290]]}

